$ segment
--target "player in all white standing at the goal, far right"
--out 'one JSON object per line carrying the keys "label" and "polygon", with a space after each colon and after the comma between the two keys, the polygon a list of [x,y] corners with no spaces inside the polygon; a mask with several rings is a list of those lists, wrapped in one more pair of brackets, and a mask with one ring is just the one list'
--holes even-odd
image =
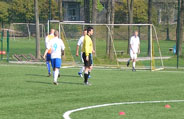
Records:
{"label": "player in all white standing at the goal, far right", "polygon": [[132,71],[136,71],[135,65],[137,60],[137,54],[140,53],[140,39],[138,34],[138,31],[135,31],[134,35],[130,38],[130,59],[127,62],[127,67],[129,66],[130,61],[132,60]]}

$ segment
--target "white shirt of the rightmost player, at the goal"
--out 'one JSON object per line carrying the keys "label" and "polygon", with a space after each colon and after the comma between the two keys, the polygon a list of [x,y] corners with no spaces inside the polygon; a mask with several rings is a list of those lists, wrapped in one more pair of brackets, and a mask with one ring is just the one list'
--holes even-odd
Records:
{"label": "white shirt of the rightmost player, at the goal", "polygon": [[130,38],[130,45],[132,46],[132,47],[130,47],[130,51],[131,52],[134,51],[135,53],[138,53],[138,49],[139,49],[139,45],[140,45],[140,39],[139,39],[139,37],[138,36],[137,37],[132,36]]}

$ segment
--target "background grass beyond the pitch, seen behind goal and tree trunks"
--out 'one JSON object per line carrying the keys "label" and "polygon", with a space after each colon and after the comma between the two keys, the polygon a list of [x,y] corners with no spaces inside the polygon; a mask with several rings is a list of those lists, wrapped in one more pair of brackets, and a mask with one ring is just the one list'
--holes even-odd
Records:
{"label": "background grass beyond the pitch, seen behind goal and tree trunks", "polygon": [[[169,51],[169,48],[173,48],[175,45],[175,41],[166,41],[166,40],[160,40],[160,47],[162,51],[162,56],[169,56],[170,59],[164,60],[164,65],[166,67],[176,67],[177,60],[176,56],[173,54],[172,51]],[[70,40],[67,39],[67,42],[65,41],[66,45],[66,59],[65,62],[73,62],[73,58],[75,62],[80,62],[80,57],[76,57],[76,44],[77,39]],[[108,56],[106,56],[106,42],[105,40],[99,40],[96,41],[96,55],[97,57],[94,57],[94,63],[95,65],[114,65],[117,66],[116,60],[109,60]],[[129,55],[127,54],[127,41],[126,40],[114,40],[114,46],[116,51],[124,51],[124,54],[121,55],[118,53],[118,58],[128,58]],[[16,38],[14,40],[13,38],[10,38],[10,61],[14,60],[12,59],[13,54],[33,54],[35,55],[35,39],[31,38],[31,40],[28,40],[27,38]],[[41,53],[43,55],[45,50],[45,43],[44,39],[41,39],[40,41],[40,48]],[[148,49],[148,43],[146,40],[141,40],[141,54],[139,57],[147,57],[147,49]],[[6,38],[4,38],[4,50],[6,50]],[[184,50],[184,47],[183,47]],[[158,57],[158,47],[156,41],[154,41],[154,56]],[[5,58],[6,56],[4,56]],[[161,66],[160,60],[156,60],[157,64],[156,66]],[[150,61],[140,61],[137,62],[137,66],[149,66]],[[120,65],[125,66],[126,62],[120,63]],[[184,67],[184,57],[180,57],[179,59],[179,66]]]}

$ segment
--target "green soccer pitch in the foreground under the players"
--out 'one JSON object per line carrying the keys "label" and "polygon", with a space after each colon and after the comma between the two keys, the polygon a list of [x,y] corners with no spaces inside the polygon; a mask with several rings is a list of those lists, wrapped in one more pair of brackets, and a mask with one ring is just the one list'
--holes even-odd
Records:
{"label": "green soccer pitch in the foreground under the players", "polygon": [[[63,119],[64,112],[86,106],[184,99],[184,73],[94,68],[84,86],[79,69],[61,69],[59,85],[41,65],[0,64],[0,118]],[[170,109],[164,105],[171,105]],[[183,119],[184,102],[100,107],[71,114],[72,119]],[[126,115],[119,115],[124,111]]]}

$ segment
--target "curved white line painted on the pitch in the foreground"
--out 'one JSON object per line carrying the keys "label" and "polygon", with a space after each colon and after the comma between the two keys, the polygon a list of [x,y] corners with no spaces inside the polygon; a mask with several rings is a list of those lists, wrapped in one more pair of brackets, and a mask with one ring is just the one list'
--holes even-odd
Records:
{"label": "curved white line painted on the pitch in the foreground", "polygon": [[69,110],[63,114],[64,119],[72,119],[70,115],[73,112],[83,111],[87,109],[99,108],[99,107],[107,107],[107,106],[114,106],[114,105],[131,105],[131,104],[148,104],[148,103],[173,103],[173,102],[184,102],[184,100],[163,100],[163,101],[139,101],[139,102],[121,102],[121,103],[110,103],[110,104],[102,104],[102,105],[95,105],[95,106],[88,106],[88,107],[81,107],[74,110]]}

